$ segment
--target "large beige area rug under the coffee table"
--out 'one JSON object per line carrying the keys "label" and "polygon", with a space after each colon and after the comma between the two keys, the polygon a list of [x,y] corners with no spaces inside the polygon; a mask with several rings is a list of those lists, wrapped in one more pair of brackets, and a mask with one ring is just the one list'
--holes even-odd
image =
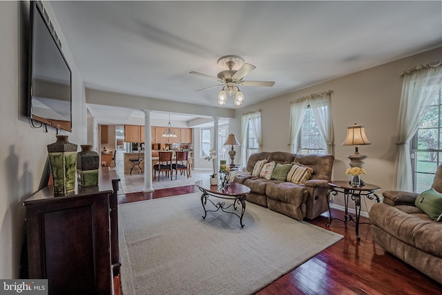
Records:
{"label": "large beige area rug under the coffee table", "polygon": [[119,205],[124,295],[253,294],[343,238],[250,202],[244,227],[222,211],[203,219],[200,196]]}

